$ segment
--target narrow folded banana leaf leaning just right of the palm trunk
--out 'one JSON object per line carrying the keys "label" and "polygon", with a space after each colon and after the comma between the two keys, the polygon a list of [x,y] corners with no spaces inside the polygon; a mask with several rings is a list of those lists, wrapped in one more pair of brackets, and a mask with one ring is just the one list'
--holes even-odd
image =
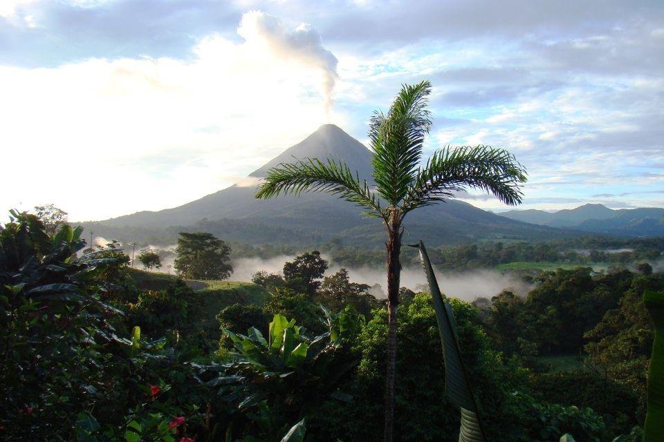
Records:
{"label": "narrow folded banana leaf leaning just right of the palm trunk", "polygon": [[436,320],[441,334],[443,361],[445,362],[445,394],[454,405],[461,408],[459,442],[486,442],[484,429],[477,412],[477,403],[472,394],[470,378],[463,365],[461,351],[459,350],[457,321],[454,319],[452,305],[441,294],[424,243],[420,241],[419,244],[413,247],[417,247],[420,251],[420,260],[427,276],[431,297],[434,300],[434,309],[436,309]]}

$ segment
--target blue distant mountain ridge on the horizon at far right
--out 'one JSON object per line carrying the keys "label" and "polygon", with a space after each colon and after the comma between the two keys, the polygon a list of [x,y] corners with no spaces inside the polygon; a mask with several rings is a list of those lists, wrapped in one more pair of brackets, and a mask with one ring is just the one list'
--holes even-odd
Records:
{"label": "blue distant mountain ridge on the horizon at far right", "polygon": [[500,215],[532,224],[613,236],[664,236],[664,209],[658,208],[613,210],[602,204],[584,204],[557,212],[530,209]]}

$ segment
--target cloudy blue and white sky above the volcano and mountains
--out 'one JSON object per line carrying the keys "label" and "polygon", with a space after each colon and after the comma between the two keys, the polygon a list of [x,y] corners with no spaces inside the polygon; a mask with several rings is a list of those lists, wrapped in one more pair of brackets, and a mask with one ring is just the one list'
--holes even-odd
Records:
{"label": "cloudy blue and white sky above the volcano and mountains", "polygon": [[0,210],[178,206],[422,79],[427,153],[507,148],[522,209],[661,207],[663,73],[661,0],[0,0]]}

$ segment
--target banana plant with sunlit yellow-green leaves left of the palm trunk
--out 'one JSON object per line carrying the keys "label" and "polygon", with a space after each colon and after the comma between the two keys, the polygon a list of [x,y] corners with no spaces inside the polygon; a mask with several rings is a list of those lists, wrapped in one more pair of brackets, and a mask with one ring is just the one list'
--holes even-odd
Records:
{"label": "banana plant with sunlit yellow-green leaves left of the palm trunk", "polygon": [[334,350],[353,338],[363,318],[352,307],[337,314],[323,312],[328,330],[313,338],[295,319],[281,314],[275,314],[266,336],[255,327],[246,335],[222,328],[236,350],[228,355],[230,361],[194,365],[205,378],[216,374],[200,380],[219,387],[219,398],[229,405],[234,428],[229,427],[227,440],[236,441],[232,436],[241,434],[242,442],[302,441],[304,422],[291,427],[293,418],[302,419],[322,398],[345,395],[338,392],[338,380],[359,361],[338,359]]}

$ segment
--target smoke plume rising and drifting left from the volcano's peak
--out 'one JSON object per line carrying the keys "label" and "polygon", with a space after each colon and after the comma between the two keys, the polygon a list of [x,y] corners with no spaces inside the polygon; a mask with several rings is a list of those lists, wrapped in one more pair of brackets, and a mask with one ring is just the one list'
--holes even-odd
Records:
{"label": "smoke plume rising and drifting left from the volcano's peak", "polygon": [[332,52],[323,48],[320,35],[311,25],[302,23],[295,29],[289,29],[278,17],[252,10],[242,16],[237,33],[248,44],[268,46],[277,55],[319,70],[325,111],[329,115],[332,91],[338,78],[338,60]]}

